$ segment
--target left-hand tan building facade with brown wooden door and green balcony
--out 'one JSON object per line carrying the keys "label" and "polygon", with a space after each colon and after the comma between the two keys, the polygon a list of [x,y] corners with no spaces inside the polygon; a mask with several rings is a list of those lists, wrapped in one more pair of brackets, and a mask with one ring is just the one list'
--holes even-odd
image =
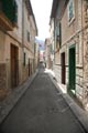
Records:
{"label": "left-hand tan building facade with brown wooden door and green balcony", "polygon": [[[34,25],[31,25],[31,18]],[[36,34],[30,0],[0,1],[0,99],[32,73],[30,63],[33,65]]]}

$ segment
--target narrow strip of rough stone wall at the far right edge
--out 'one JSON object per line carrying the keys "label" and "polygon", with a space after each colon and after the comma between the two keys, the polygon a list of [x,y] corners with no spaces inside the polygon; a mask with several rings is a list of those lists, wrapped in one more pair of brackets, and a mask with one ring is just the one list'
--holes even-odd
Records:
{"label": "narrow strip of rough stone wall at the far right edge", "polygon": [[88,110],[88,1],[84,2],[84,105]]}

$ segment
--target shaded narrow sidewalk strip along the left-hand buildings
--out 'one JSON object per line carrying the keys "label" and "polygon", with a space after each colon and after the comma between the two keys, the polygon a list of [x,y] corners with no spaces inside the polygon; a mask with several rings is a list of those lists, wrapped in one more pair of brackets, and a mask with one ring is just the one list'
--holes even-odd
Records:
{"label": "shaded narrow sidewalk strip along the left-hand buildings", "polygon": [[36,70],[36,72],[32,76],[30,76],[28,81],[25,81],[20,86],[15,88],[14,89],[15,91],[11,93],[8,98],[6,98],[3,102],[0,103],[0,124],[7,119],[7,116],[13,110],[15,104],[26,92],[28,88],[32,84],[37,73],[38,73],[38,70]]}

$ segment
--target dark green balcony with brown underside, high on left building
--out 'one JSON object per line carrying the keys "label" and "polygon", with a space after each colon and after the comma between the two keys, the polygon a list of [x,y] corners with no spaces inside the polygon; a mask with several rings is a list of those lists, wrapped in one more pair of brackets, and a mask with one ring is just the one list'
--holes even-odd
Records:
{"label": "dark green balcony with brown underside, high on left building", "polygon": [[14,0],[0,1],[0,28],[12,31],[16,23],[16,3]]}

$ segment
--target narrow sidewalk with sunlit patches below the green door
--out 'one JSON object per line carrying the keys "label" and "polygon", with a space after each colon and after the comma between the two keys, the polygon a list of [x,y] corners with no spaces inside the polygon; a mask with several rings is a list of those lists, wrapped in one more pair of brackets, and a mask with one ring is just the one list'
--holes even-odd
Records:
{"label": "narrow sidewalk with sunlit patches below the green door", "polygon": [[75,116],[78,119],[79,123],[86,131],[88,132],[88,112],[81,109],[70,96],[67,94],[66,86],[58,83],[55,79],[55,73],[52,70],[46,69],[46,73],[48,73],[52,82],[56,86],[57,90],[61,91],[63,98],[69,105],[70,110],[74,112]]}

